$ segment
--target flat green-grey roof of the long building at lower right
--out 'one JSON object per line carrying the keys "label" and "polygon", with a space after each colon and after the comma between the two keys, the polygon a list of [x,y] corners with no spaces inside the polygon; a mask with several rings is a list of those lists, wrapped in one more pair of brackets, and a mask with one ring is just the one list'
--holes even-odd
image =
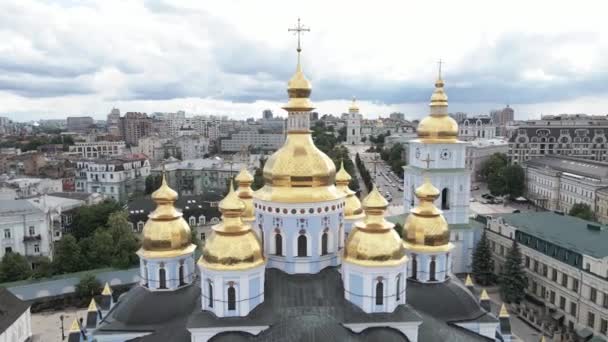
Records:
{"label": "flat green-grey roof of the long building at lower right", "polygon": [[550,211],[500,217],[519,231],[554,245],[595,258],[608,256],[608,227],[605,225]]}

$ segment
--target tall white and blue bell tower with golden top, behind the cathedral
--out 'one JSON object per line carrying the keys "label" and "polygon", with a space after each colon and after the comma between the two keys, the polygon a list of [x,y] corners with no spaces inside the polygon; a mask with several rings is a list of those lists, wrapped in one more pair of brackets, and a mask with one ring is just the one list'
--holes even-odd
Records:
{"label": "tall white and blue bell tower with golden top, behind the cathedral", "polygon": [[427,157],[433,161],[428,177],[440,191],[435,204],[449,224],[469,222],[471,178],[465,168],[467,143],[458,140],[458,124],[448,116],[448,97],[443,90],[441,69],[431,96],[431,113],[418,124],[418,139],[409,143],[409,160],[404,171],[406,212],[418,204],[415,189],[423,183]]}

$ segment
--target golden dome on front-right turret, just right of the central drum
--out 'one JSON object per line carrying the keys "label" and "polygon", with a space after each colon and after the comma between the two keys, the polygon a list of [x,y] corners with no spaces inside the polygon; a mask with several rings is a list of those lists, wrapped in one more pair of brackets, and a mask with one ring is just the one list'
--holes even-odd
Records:
{"label": "golden dome on front-right turret, just right of the central drum", "polygon": [[365,219],[354,224],[344,248],[344,261],[362,266],[396,266],[407,261],[403,243],[384,219],[388,202],[378,189],[363,199]]}

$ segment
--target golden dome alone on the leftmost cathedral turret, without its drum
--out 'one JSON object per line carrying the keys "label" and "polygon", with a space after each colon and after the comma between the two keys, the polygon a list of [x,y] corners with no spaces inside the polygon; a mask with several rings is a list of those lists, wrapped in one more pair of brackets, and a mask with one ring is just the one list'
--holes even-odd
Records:
{"label": "golden dome alone on the leftmost cathedral turret, without its drum", "polygon": [[191,242],[190,226],[173,205],[177,193],[167,185],[164,173],[162,177],[160,188],[152,194],[156,209],[148,215],[142,231],[142,247],[138,251],[140,256],[148,258],[185,255],[196,248]]}

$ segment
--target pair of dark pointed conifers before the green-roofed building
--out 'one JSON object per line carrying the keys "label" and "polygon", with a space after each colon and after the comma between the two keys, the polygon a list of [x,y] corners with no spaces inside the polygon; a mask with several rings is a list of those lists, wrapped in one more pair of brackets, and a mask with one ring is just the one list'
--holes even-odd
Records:
{"label": "pair of dark pointed conifers before the green-roofed building", "polygon": [[494,263],[490,243],[484,231],[473,251],[473,278],[482,285],[488,286],[498,282],[503,301],[520,303],[525,297],[528,278],[522,265],[521,250],[517,240],[507,252],[502,272],[494,274]]}

